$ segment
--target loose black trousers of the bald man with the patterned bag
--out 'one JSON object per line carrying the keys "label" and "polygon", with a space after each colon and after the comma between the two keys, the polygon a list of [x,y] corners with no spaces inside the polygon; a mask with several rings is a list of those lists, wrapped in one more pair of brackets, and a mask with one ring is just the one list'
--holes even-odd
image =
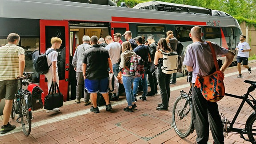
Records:
{"label": "loose black trousers of the bald man with the patterned bag", "polygon": [[192,119],[196,129],[197,144],[207,144],[209,128],[215,144],[224,144],[223,125],[218,104],[204,99],[199,88],[192,84]]}

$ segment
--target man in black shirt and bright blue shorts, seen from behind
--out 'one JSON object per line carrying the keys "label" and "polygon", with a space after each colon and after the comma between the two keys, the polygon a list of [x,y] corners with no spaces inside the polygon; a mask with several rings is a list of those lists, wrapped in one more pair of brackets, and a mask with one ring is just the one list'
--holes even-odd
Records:
{"label": "man in black shirt and bright blue shorts, seen from behind", "polygon": [[91,94],[93,106],[90,111],[98,113],[97,92],[100,92],[106,102],[106,110],[112,109],[108,97],[108,67],[113,73],[112,62],[106,48],[98,44],[98,37],[91,37],[91,48],[85,51],[83,60],[83,76],[85,89]]}

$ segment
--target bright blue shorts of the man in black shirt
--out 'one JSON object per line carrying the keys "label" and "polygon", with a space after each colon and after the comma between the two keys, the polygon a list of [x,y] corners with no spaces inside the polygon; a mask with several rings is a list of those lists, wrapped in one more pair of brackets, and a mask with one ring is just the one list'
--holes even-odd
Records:
{"label": "bright blue shorts of the man in black shirt", "polygon": [[88,93],[108,93],[108,77],[100,80],[84,80],[85,89]]}

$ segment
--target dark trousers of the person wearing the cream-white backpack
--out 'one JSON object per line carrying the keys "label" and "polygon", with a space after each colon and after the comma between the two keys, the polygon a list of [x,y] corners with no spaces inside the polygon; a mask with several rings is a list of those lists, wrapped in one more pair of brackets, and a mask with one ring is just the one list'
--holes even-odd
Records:
{"label": "dark trousers of the person wearing the cream-white backpack", "polygon": [[157,67],[156,78],[158,81],[158,85],[160,87],[162,106],[164,108],[168,108],[168,105],[169,105],[169,99],[171,95],[171,90],[170,90],[171,76],[172,74],[165,74],[164,72],[162,72],[162,69],[160,67]]}

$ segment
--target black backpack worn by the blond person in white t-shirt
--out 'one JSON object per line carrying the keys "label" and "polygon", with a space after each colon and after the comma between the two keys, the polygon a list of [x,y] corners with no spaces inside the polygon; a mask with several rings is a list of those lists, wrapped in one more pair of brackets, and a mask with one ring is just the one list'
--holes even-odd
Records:
{"label": "black backpack worn by the blond person in white t-shirt", "polygon": [[35,67],[36,72],[38,72],[40,75],[44,75],[49,71],[49,68],[52,64],[50,64],[50,66],[48,66],[47,55],[53,51],[55,51],[55,50],[51,49],[48,53],[41,54],[35,58],[34,67]]}

